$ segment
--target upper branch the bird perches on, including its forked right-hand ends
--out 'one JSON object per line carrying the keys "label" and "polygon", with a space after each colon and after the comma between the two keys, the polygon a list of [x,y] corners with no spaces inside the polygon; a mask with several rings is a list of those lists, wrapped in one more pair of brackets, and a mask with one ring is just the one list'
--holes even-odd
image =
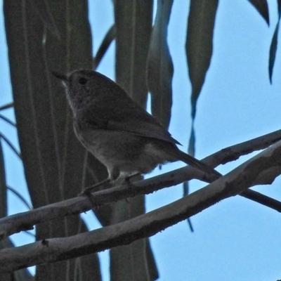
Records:
{"label": "upper branch the bird perches on, including its forked right-hand ends", "polygon": [[[275,131],[273,133],[268,133],[265,136],[255,138],[251,141],[246,141],[244,143],[225,148],[220,152],[214,153],[214,155],[202,159],[202,161],[214,166],[214,163],[217,162],[217,159],[220,159],[220,161],[222,162],[225,162],[226,159],[237,159],[237,155],[244,155],[246,152],[252,152],[252,147],[254,147],[255,150],[260,150],[262,148],[265,148],[266,145],[275,143],[279,139],[281,139],[281,130]],[[200,171],[192,169],[190,166],[185,166],[184,168],[162,174],[161,176],[156,176],[155,178],[149,178],[145,181],[134,183],[134,185],[136,186],[135,188],[133,188],[133,192],[131,189],[127,188],[126,185],[122,187],[110,188],[110,190],[95,192],[92,195],[93,201],[96,203],[96,206],[100,206],[102,204],[115,202],[128,197],[133,197],[135,195],[149,194],[156,190],[171,187],[172,185],[177,185],[178,183],[182,183],[183,181],[188,181],[191,178],[198,178],[202,181],[207,182],[212,181],[211,178],[208,178]],[[272,201],[269,200],[268,197],[261,194],[251,195],[252,192],[254,191],[247,190],[247,194],[241,193],[240,195],[264,204],[268,207],[273,207],[273,209],[280,208],[280,202],[278,204],[275,200],[273,204],[271,204],[270,202]],[[277,207],[277,205],[279,207]],[[76,197],[70,200],[65,200],[63,202],[58,202],[50,204],[48,206],[37,208],[32,211],[26,211],[20,214],[1,218],[0,240],[4,239],[8,235],[12,235],[13,233],[32,229],[33,226],[37,223],[41,223],[43,221],[51,221],[53,218],[79,214],[83,211],[88,211],[92,207],[93,205],[86,197]]]}

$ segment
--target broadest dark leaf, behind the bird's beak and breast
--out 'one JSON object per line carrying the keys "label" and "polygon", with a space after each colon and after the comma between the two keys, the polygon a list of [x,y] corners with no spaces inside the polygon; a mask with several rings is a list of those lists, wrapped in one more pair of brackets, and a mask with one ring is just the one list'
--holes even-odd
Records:
{"label": "broadest dark leaf, behind the bird's beak and breast", "polygon": [[[4,19],[20,151],[32,205],[37,208],[77,196],[90,178],[87,152],[74,136],[63,87],[51,76],[51,70],[91,68],[88,6],[86,0],[6,0]],[[60,37],[53,32],[55,27]],[[97,175],[103,176],[104,167],[96,159],[93,162]],[[72,216],[41,223],[36,236],[42,240],[84,231],[84,222]],[[36,275],[38,280],[65,280],[78,273],[83,280],[100,280],[98,256],[40,265]]]}

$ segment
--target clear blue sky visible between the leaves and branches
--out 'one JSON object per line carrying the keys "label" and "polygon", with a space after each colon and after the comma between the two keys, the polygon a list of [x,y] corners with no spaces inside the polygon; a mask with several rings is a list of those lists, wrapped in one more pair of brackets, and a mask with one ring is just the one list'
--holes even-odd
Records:
{"label": "clear blue sky visible between the leaves and branches", "polygon": [[[1,4],[0,0],[0,4]],[[112,25],[112,1],[89,1],[93,53]],[[280,129],[281,49],[277,49],[273,84],[268,78],[268,53],[277,23],[277,4],[270,6],[270,27],[247,0],[221,0],[214,30],[214,53],[197,104],[196,157]],[[190,133],[190,82],[185,58],[185,30],[189,1],[176,0],[169,25],[169,47],[174,62],[173,108],[169,131],[186,151]],[[0,105],[11,102],[4,19],[0,19]],[[98,71],[114,79],[114,44]],[[14,119],[13,110],[6,117]],[[0,131],[18,147],[16,132],[0,120]],[[29,200],[22,165],[2,141],[8,184]],[[251,155],[252,157],[253,155]],[[249,157],[218,166],[222,174]],[[148,176],[171,171],[183,163],[168,164]],[[281,200],[280,177],[273,185],[254,188]],[[191,191],[204,186],[192,181]],[[181,198],[181,185],[148,195],[147,211]],[[26,211],[11,192],[9,214]],[[91,215],[84,216],[89,228],[100,227]],[[150,238],[159,269],[159,280],[278,280],[281,279],[281,215],[243,197],[235,196],[191,218],[194,233],[183,221]],[[26,233],[13,235],[15,244],[32,242]],[[100,254],[104,280],[108,277],[108,252]]]}

